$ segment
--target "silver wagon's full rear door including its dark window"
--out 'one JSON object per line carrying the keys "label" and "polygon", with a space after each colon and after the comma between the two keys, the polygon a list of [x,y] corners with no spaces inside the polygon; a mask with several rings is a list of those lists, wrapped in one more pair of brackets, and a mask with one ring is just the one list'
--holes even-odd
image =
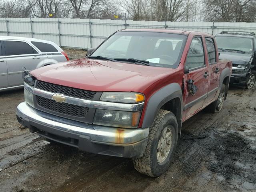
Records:
{"label": "silver wagon's full rear door including its dark window", "polygon": [[44,62],[39,54],[27,42],[19,40],[4,40],[6,61],[8,69],[8,86],[19,86],[23,84],[22,68],[31,71],[40,62]]}

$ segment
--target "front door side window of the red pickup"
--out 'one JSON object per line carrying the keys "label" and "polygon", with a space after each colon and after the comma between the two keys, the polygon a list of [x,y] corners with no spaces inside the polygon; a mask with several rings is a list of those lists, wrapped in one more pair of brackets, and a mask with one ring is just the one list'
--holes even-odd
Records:
{"label": "front door side window of the red pickup", "polygon": [[186,59],[186,66],[189,69],[198,68],[204,66],[204,48],[201,37],[193,38],[190,48],[188,51],[188,56]]}

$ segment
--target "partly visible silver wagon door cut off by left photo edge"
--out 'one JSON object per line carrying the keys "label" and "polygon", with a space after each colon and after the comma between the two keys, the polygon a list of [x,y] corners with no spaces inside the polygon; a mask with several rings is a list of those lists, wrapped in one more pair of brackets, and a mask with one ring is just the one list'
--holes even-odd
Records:
{"label": "partly visible silver wagon door cut off by left photo edge", "polygon": [[8,73],[6,56],[4,53],[4,43],[0,40],[0,88],[8,87]]}

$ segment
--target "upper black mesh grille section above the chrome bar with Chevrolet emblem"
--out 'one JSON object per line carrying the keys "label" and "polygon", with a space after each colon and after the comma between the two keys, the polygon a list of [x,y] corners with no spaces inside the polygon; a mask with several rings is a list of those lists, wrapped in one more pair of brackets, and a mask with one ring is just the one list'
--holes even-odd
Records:
{"label": "upper black mesh grille section above the chrome bar with Chevrolet emblem", "polygon": [[45,90],[48,92],[52,92],[52,93],[60,93],[60,94],[64,94],[65,96],[87,99],[87,100],[92,100],[96,94],[96,92],[55,85],[55,84],[46,83],[42,81],[38,81],[36,83],[36,88]]}

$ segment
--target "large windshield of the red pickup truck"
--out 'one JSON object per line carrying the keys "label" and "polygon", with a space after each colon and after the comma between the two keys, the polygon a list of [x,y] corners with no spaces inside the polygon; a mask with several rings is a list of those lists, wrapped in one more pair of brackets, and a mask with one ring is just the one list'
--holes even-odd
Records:
{"label": "large windshield of the red pickup truck", "polygon": [[150,66],[177,68],[185,41],[186,35],[181,34],[117,32],[90,56],[120,59],[122,62],[125,59],[135,59],[147,61]]}

